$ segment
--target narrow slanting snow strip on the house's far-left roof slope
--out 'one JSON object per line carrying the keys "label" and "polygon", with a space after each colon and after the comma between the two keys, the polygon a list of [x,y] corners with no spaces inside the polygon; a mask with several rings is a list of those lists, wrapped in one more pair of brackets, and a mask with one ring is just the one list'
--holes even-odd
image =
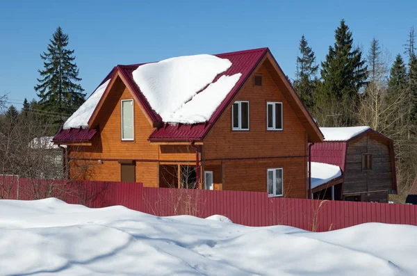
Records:
{"label": "narrow slanting snow strip on the house's far-left roof slope", "polygon": [[64,123],[63,129],[70,129],[70,128],[79,128],[79,127],[88,127],[88,120],[92,113],[94,112],[101,96],[104,94],[104,90],[106,90],[108,83],[110,83],[110,79],[105,83],[101,84],[99,88],[92,93],[92,95],[68,118],[68,120]]}

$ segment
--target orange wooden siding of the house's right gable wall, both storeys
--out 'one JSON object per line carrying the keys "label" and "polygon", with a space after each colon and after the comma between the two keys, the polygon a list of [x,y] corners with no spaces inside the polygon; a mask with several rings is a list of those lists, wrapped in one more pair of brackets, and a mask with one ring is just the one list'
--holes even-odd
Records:
{"label": "orange wooden siding of the house's right gable wall, both storeys", "polygon": [[[254,74],[263,76],[263,86],[253,85]],[[229,105],[204,139],[202,160],[208,162],[224,159],[224,190],[264,192],[266,168],[280,168],[284,165],[284,196],[306,197],[306,131],[265,67],[259,67],[252,76],[234,99],[250,102],[250,131],[231,130]],[[267,131],[267,102],[282,102],[282,131]],[[265,159],[268,157],[271,159]],[[214,177],[218,179],[218,173]]]}

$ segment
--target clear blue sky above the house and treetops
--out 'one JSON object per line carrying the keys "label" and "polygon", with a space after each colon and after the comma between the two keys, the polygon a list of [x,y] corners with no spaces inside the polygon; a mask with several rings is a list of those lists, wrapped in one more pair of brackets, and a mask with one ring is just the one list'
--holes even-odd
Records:
{"label": "clear blue sky above the house and treetops", "polygon": [[90,95],[117,64],[259,47],[293,78],[301,35],[323,60],[342,18],[364,51],[375,37],[394,57],[417,28],[417,1],[4,1],[0,93],[18,108],[25,97],[38,99],[39,55],[58,26]]}

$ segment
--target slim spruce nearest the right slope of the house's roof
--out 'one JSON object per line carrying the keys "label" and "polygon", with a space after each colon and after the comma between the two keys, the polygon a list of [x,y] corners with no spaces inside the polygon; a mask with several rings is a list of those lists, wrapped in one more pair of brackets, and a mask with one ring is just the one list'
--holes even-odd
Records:
{"label": "slim spruce nearest the right slope of the house's roof", "polygon": [[304,35],[301,37],[299,49],[300,56],[297,56],[297,72],[293,84],[304,105],[311,108],[318,65],[316,65],[316,56]]}

